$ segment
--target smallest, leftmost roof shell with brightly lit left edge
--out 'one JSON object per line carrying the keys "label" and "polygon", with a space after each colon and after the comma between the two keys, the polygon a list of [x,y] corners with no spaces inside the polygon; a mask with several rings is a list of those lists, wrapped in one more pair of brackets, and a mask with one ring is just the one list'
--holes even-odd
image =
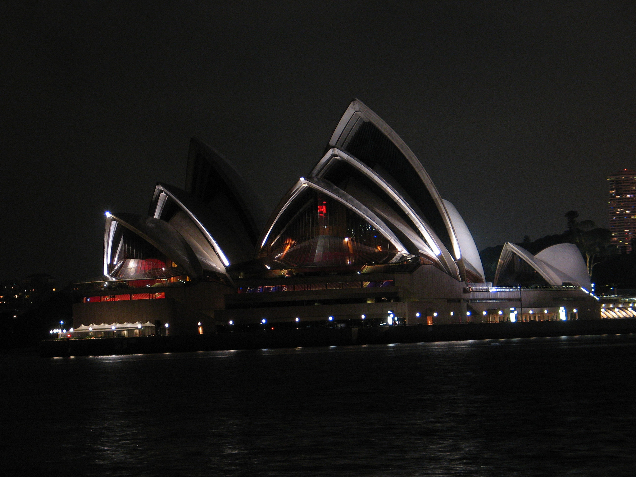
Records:
{"label": "smallest, leftmost roof shell with brightly lit left edge", "polygon": [[104,232],[104,275],[111,280],[113,280],[113,277],[109,273],[111,272],[109,268],[111,258],[116,253],[113,247],[113,239],[116,237],[117,228],[120,226],[134,233],[151,247],[161,252],[191,277],[200,277],[202,275],[202,268],[197,256],[186,240],[169,223],[137,214],[111,214],[107,212]]}

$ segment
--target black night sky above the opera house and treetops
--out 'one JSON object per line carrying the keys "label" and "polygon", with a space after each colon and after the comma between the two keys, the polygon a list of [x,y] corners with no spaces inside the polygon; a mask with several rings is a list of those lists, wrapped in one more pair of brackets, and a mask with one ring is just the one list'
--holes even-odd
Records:
{"label": "black night sky above the opera house and treetops", "polygon": [[184,186],[190,137],[271,211],[350,100],[378,113],[479,249],[607,226],[636,167],[636,6],[598,1],[3,1],[0,279],[102,273],[104,211]]}

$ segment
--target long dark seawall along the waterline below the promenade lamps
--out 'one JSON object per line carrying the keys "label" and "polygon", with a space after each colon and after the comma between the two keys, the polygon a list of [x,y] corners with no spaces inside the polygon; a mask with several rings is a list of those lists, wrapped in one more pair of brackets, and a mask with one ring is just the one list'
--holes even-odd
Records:
{"label": "long dark seawall along the waterline below the promenade lamps", "polygon": [[636,319],[290,329],[253,331],[249,333],[211,333],[209,335],[45,340],[40,343],[40,356],[104,356],[113,354],[497,340],[503,338],[613,335],[622,333],[636,333]]}

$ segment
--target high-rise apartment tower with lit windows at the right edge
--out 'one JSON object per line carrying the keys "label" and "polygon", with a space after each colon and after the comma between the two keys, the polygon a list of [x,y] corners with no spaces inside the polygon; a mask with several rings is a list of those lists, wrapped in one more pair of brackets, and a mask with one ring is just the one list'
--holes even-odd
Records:
{"label": "high-rise apartment tower with lit windows at the right edge", "polygon": [[636,238],[636,171],[623,169],[607,177],[607,184],[612,244],[630,253]]}

